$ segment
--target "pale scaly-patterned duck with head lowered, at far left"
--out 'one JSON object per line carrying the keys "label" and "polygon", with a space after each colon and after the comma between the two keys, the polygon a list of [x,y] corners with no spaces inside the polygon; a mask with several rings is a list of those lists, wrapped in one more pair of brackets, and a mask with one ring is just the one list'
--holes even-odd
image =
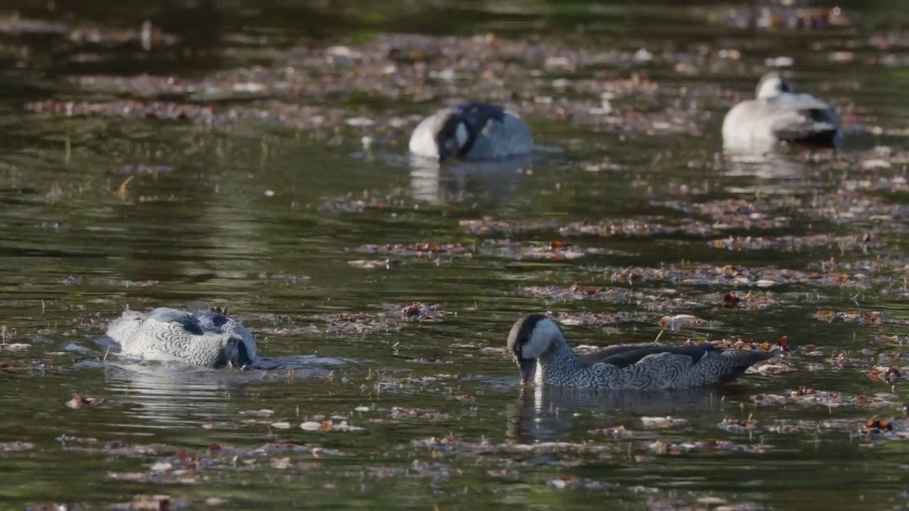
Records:
{"label": "pale scaly-patterned duck with head lowered, at far left", "polygon": [[227,310],[186,312],[156,307],[147,314],[127,310],[107,326],[106,335],[125,356],[194,366],[254,366],[253,335]]}

